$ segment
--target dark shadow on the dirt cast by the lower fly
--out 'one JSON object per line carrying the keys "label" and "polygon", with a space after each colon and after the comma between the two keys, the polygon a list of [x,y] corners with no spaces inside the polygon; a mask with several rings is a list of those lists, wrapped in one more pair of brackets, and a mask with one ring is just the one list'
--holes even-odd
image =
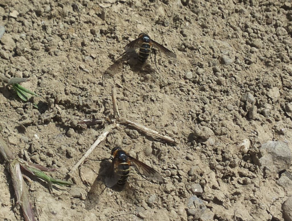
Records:
{"label": "dark shadow on the dirt cast by the lower fly", "polygon": [[[100,162],[100,169],[98,171],[98,176],[94,180],[93,185],[91,186],[84,202],[86,210],[91,210],[95,208],[95,206],[98,206],[98,203],[100,202],[103,196],[107,197],[103,193],[107,189],[105,185],[105,177],[108,174],[108,170],[110,166],[111,166],[111,162],[108,160],[103,160]],[[129,200],[129,202],[133,202],[134,200],[137,200],[137,199],[132,199],[132,198],[137,198],[137,196],[139,195],[135,189],[129,186],[128,182],[126,182],[126,185],[124,187],[121,187],[119,185],[114,185],[110,189],[114,190],[116,194],[120,195],[123,199]]]}

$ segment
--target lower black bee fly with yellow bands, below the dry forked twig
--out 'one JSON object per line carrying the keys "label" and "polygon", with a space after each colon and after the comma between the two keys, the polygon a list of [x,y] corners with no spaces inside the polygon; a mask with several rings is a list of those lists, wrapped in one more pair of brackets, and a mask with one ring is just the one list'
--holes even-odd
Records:
{"label": "lower black bee fly with yellow bands, below the dry forked twig", "polygon": [[156,170],[129,156],[120,147],[114,147],[112,149],[112,155],[114,157],[109,158],[112,160],[112,163],[105,176],[105,185],[107,187],[111,188],[116,184],[124,187],[129,176],[130,166],[134,166],[140,175],[152,178],[158,182],[163,182],[162,176]]}

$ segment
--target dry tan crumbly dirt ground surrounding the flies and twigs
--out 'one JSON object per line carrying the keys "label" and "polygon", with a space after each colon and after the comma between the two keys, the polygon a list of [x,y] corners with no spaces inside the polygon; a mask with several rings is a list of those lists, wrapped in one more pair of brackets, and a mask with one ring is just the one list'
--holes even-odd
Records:
{"label": "dry tan crumbly dirt ground surrounding the flies and twigs", "polygon": [[[270,140],[291,148],[291,10],[290,1],[276,0],[1,0],[0,72],[29,77],[22,85],[41,95],[38,110],[1,85],[1,135],[16,155],[27,152],[65,178],[103,130],[77,122],[112,114],[112,86],[121,115],[178,142],[114,129],[90,158],[120,146],[164,183],[131,170],[127,189],[88,201],[105,170],[88,160],[69,179],[73,187],[50,194],[44,182],[27,183],[37,219],[284,220],[291,189],[251,156]],[[160,72],[154,56],[141,68],[118,58],[141,32],[177,58],[158,53]],[[0,160],[0,219],[21,220]]]}

